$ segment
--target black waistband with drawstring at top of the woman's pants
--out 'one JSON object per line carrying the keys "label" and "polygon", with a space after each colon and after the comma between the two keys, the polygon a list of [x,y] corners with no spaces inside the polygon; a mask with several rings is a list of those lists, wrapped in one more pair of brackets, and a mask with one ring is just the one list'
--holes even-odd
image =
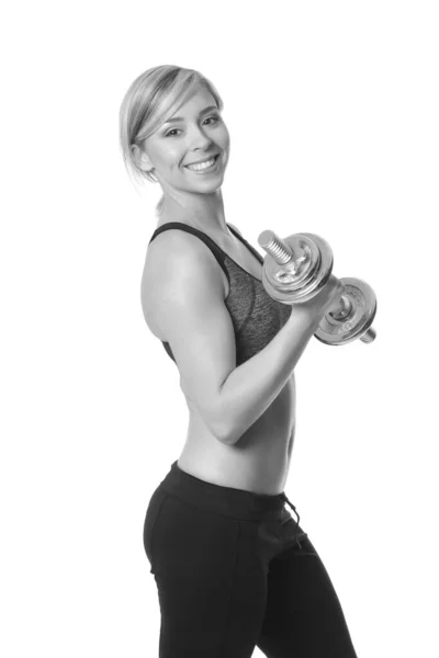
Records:
{"label": "black waistband with drawstring at top of the woman's pants", "polygon": [[301,546],[296,536],[300,515],[284,491],[274,495],[256,494],[246,489],[214,485],[182,470],[177,462],[173,462],[169,473],[161,480],[160,489],[201,509],[215,510],[243,521],[280,520],[286,502],[297,517],[294,537]]}

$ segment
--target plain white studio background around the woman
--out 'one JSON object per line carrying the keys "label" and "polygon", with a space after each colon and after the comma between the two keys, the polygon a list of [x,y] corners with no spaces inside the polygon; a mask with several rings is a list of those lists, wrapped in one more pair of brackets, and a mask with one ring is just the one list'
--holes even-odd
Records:
{"label": "plain white studio background around the woman", "polygon": [[[226,219],[308,231],[378,337],[313,339],[285,486],[359,658],[439,656],[436,2],[21,2],[1,27],[1,654],[158,656],[143,547],[181,453],[176,365],[139,283],[158,184],[117,113],[160,64],[222,94]],[[256,649],[255,657],[262,654]]]}

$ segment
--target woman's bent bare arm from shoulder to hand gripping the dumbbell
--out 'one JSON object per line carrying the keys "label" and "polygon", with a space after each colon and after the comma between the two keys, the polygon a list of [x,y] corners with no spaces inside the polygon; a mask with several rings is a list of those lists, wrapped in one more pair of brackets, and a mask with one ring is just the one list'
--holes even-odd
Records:
{"label": "woman's bent bare arm from shoulder to hand gripping the dumbbell", "polygon": [[172,257],[162,253],[166,262],[157,263],[162,276],[155,286],[154,319],[170,343],[183,392],[216,439],[233,445],[285,386],[339,294],[337,280],[331,276],[311,302],[295,305],[277,336],[236,366],[219,265],[196,237],[172,234]]}

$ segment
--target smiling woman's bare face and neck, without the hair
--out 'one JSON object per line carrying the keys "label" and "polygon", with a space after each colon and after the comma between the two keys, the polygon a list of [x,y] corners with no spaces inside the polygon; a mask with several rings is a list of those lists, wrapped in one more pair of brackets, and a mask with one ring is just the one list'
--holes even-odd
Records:
{"label": "smiling woman's bare face and neck, without the hair", "polygon": [[[153,171],[164,191],[160,222],[191,217],[191,225],[217,238],[229,237],[226,226],[222,184],[228,163],[230,137],[219,110],[203,112],[216,105],[213,95],[199,86],[177,115],[182,122],[164,124],[144,140],[134,145],[133,157],[143,171]],[[201,114],[200,114],[201,113]],[[219,152],[216,173],[199,175],[185,164],[209,159]]]}

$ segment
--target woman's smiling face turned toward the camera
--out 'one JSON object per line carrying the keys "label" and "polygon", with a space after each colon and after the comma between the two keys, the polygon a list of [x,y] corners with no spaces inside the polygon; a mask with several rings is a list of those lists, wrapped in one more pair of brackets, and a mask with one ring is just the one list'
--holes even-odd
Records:
{"label": "woman's smiling face turned toward the camera", "polygon": [[[179,191],[215,192],[223,183],[229,143],[228,131],[213,95],[200,87],[169,122],[144,141],[139,166],[145,171],[154,167],[154,175],[172,196]],[[188,168],[213,157],[215,162],[209,169]]]}

